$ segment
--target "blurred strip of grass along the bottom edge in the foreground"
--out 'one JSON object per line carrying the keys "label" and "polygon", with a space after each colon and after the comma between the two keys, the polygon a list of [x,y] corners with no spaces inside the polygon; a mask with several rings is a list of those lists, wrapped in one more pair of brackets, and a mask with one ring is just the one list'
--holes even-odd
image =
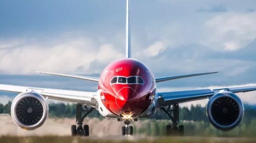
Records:
{"label": "blurred strip of grass along the bottom edge in the foreground", "polygon": [[0,143],[256,143],[256,138],[219,138],[219,137],[113,137],[85,138],[70,136],[26,136],[0,137]]}

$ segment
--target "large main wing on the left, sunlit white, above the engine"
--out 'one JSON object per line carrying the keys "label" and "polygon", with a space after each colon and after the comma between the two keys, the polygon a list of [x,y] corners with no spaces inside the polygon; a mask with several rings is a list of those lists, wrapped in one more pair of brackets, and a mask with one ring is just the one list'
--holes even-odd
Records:
{"label": "large main wing on the left, sunlit white, above the engine", "polygon": [[47,89],[37,87],[25,87],[16,85],[0,84],[0,91],[22,93],[27,91],[36,91],[44,98],[55,99],[59,101],[86,104],[96,106],[96,92],[71,91],[61,89]]}

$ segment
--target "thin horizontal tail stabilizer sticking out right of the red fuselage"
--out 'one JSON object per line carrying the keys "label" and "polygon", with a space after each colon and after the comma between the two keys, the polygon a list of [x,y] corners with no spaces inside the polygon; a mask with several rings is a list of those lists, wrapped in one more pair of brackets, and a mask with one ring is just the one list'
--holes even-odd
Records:
{"label": "thin horizontal tail stabilizer sticking out right of the red fuselage", "polygon": [[208,75],[212,73],[218,73],[218,72],[208,72],[208,73],[194,73],[194,74],[189,74],[189,75],[176,75],[176,76],[171,76],[171,77],[160,77],[160,78],[155,78],[156,82],[164,82],[166,80],[174,80],[178,78],[185,78],[185,77],[194,77],[198,75]]}

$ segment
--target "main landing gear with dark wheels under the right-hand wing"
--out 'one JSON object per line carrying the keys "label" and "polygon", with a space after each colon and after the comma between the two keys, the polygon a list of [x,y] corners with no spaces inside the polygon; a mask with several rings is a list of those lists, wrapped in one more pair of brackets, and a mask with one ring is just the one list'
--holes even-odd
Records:
{"label": "main landing gear with dark wheels under the right-hand wing", "polygon": [[184,126],[179,123],[179,104],[169,105],[161,108],[172,120],[172,126],[166,126],[166,135],[183,136]]}

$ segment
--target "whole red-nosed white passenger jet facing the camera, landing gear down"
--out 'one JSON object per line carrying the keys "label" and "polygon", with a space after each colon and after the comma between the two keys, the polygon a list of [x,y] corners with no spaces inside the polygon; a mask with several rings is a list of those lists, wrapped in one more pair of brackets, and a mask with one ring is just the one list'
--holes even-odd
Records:
{"label": "whole red-nosed white passenger jet facing the camera, landing gear down", "polygon": [[217,72],[196,73],[155,78],[144,63],[131,58],[130,0],[126,0],[126,57],[110,63],[100,77],[39,72],[48,75],[78,78],[98,82],[96,92],[47,89],[0,84],[0,91],[16,92],[11,105],[15,124],[26,130],[43,125],[48,116],[47,99],[76,104],[76,125],[71,126],[72,136],[89,136],[89,126],[83,126],[84,118],[93,110],[103,117],[124,122],[123,136],[133,135],[132,122],[151,117],[157,110],[166,113],[171,125],[166,126],[167,135],[184,134],[179,125],[179,104],[200,99],[209,99],[206,107],[210,123],[222,131],[235,128],[244,116],[244,105],[238,92],[256,90],[256,84],[197,89],[190,91],[158,92],[156,83],[185,77],[207,75]]}

